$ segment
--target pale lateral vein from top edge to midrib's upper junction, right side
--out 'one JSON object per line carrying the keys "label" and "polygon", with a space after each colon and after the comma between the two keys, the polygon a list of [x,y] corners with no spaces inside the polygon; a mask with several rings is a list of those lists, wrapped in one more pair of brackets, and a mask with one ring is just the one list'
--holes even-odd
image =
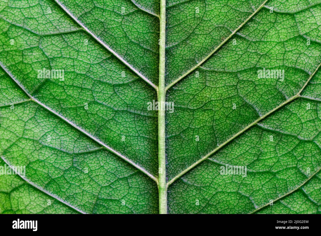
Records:
{"label": "pale lateral vein from top edge to midrib's upper junction, right side", "polygon": [[168,84],[165,88],[165,90],[169,90],[174,84],[176,84],[178,81],[182,80],[184,77],[186,77],[188,74],[193,72],[196,68],[201,66],[209,57],[211,57],[218,49],[220,49],[236,32],[238,32],[257,12],[261,10],[261,8],[264,7],[266,2],[269,0],[265,0],[247,19],[239,25],[238,28],[236,28],[226,39],[224,39],[210,54],[208,54],[206,57],[204,57],[199,63],[197,63],[194,67],[189,69],[185,74],[178,77],[176,80],[174,80],[172,83]]}

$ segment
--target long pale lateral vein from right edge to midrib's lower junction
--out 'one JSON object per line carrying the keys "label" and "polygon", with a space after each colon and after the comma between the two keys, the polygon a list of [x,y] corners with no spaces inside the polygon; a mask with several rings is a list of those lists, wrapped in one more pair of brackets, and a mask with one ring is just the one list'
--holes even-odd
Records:
{"label": "long pale lateral vein from right edge to midrib's lower junction", "polygon": [[206,160],[208,157],[210,157],[211,155],[213,155],[214,153],[216,153],[218,150],[220,150],[222,147],[224,147],[226,144],[230,143],[230,141],[232,141],[233,139],[235,139],[236,137],[238,137],[239,135],[241,135],[242,133],[244,133],[245,131],[247,131],[249,128],[255,126],[259,121],[263,120],[264,118],[266,118],[267,116],[271,115],[274,111],[282,108],[283,106],[285,106],[286,104],[290,103],[291,101],[302,97],[300,94],[303,91],[303,89],[308,85],[309,81],[312,79],[312,77],[317,73],[317,71],[319,70],[319,68],[321,67],[321,63],[317,66],[317,68],[315,69],[315,71],[309,76],[308,80],[306,81],[306,83],[302,86],[302,88],[299,90],[299,92],[292,96],[291,98],[289,98],[288,100],[282,102],[279,106],[275,107],[274,109],[270,110],[269,112],[265,113],[263,116],[257,118],[255,121],[253,121],[251,124],[249,124],[247,127],[243,128],[242,130],[240,130],[238,133],[236,133],[235,135],[233,135],[232,137],[230,137],[228,140],[226,140],[224,143],[222,143],[221,145],[219,145],[217,148],[213,149],[211,152],[207,153],[204,157],[202,157],[201,159],[199,159],[197,162],[193,163],[192,165],[190,165],[189,167],[187,167],[185,170],[181,171],[178,175],[176,175],[173,179],[169,180],[167,182],[167,187],[169,185],[171,185],[175,180],[177,180],[179,177],[181,177],[182,175],[184,175],[185,173],[187,173],[189,170],[192,170],[195,166],[197,166],[199,163],[203,162],[204,160]]}

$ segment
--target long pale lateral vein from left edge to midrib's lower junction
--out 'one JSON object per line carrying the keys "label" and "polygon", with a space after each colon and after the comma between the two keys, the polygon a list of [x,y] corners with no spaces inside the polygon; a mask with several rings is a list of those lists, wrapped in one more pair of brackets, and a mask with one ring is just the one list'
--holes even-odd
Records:
{"label": "long pale lateral vein from left edge to midrib's lower junction", "polygon": [[124,155],[122,155],[121,153],[117,152],[116,150],[112,149],[111,147],[109,147],[108,145],[106,145],[105,143],[103,143],[102,141],[100,141],[99,139],[97,139],[96,137],[94,137],[93,135],[89,134],[87,131],[85,131],[84,129],[82,129],[81,127],[78,127],[76,124],[74,124],[73,122],[71,122],[70,120],[68,120],[67,118],[63,117],[62,115],[60,115],[59,113],[57,113],[56,111],[54,111],[53,109],[49,108],[48,106],[46,106],[45,104],[43,104],[42,102],[40,102],[39,100],[37,100],[36,98],[34,98],[25,88],[24,86],[22,86],[20,84],[20,82],[18,80],[16,80],[13,76],[13,74],[7,70],[7,68],[2,64],[2,62],[0,62],[0,66],[2,67],[2,69],[11,77],[11,79],[13,79],[13,81],[30,97],[30,100],[36,102],[37,104],[39,104],[41,107],[45,108],[46,110],[50,111],[51,113],[55,114],[57,117],[61,118],[62,120],[64,120],[65,122],[67,122],[69,125],[73,126],[74,128],[76,128],[77,130],[79,130],[80,132],[82,132],[84,135],[90,137],[92,140],[94,140],[95,142],[97,142],[98,144],[100,144],[101,146],[103,146],[104,148],[106,148],[108,151],[110,151],[111,153],[114,153],[115,155],[117,155],[118,157],[120,157],[121,159],[123,159],[124,161],[128,162],[129,164],[133,165],[136,169],[142,171],[143,173],[145,173],[147,176],[149,176],[151,179],[153,179],[154,181],[156,181],[156,183],[158,183],[158,179],[153,176],[151,173],[149,173],[147,170],[145,170],[143,167],[137,165],[135,162],[131,161],[130,159],[128,159],[127,157],[125,157]]}

